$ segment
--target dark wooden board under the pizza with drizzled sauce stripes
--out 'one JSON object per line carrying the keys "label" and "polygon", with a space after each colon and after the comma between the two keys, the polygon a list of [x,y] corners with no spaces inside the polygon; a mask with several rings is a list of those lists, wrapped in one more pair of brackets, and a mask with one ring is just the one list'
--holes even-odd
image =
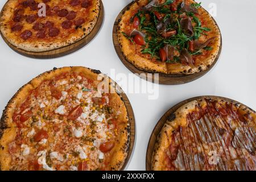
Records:
{"label": "dark wooden board under the pizza with drizzled sauce stripes", "polygon": [[166,123],[166,120],[167,120],[168,116],[171,115],[172,113],[174,113],[177,109],[179,109],[179,107],[183,106],[184,104],[187,104],[188,102],[191,102],[193,100],[199,100],[199,99],[202,99],[202,98],[207,98],[207,99],[217,98],[217,99],[221,99],[221,100],[225,100],[225,101],[230,101],[230,102],[234,102],[234,103],[238,103],[238,104],[243,105],[242,103],[234,101],[234,100],[232,100],[230,98],[219,97],[219,96],[199,96],[199,97],[189,98],[189,99],[187,99],[185,101],[182,101],[179,104],[176,104],[175,106],[171,107],[171,109],[169,109],[162,116],[162,118],[160,118],[160,120],[156,124],[154,130],[152,131],[152,134],[150,136],[150,140],[148,141],[147,154],[146,154],[146,170],[147,171],[152,171],[152,168],[151,168],[151,158],[152,158],[152,154],[153,154],[153,151],[154,151],[154,148],[155,148],[155,142],[156,142],[156,139],[157,139],[160,131],[162,130],[162,127]]}

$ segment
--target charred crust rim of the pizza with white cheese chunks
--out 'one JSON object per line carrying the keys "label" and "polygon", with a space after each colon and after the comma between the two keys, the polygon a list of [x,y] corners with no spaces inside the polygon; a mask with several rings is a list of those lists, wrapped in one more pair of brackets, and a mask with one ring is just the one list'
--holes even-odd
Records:
{"label": "charred crust rim of the pizza with white cheese chunks", "polygon": [[[16,124],[13,121],[15,107],[21,104],[28,96],[29,92],[37,88],[42,83],[42,81],[50,80],[51,78],[66,72],[82,73],[84,76],[86,76],[86,78],[90,78],[96,81],[97,84],[101,82],[101,80],[98,79],[98,75],[101,74],[100,71],[85,67],[63,67],[59,69],[54,68],[52,71],[42,73],[38,77],[28,82],[22,88],[20,88],[7,104],[0,121],[0,170],[9,169],[10,154],[8,151],[8,143],[13,141],[16,137]],[[113,82],[111,78],[109,78],[109,83],[110,82]],[[120,170],[125,163],[127,151],[129,149],[130,123],[126,106],[122,100],[122,96],[116,92],[112,93],[110,96],[110,102],[112,103],[111,106],[113,107],[113,110],[118,109],[120,112],[119,119],[122,119],[123,123],[119,125],[118,129],[121,132],[119,132],[119,135],[117,136],[117,142],[115,143],[115,146],[110,153],[113,154],[113,157],[109,164],[109,169]]]}

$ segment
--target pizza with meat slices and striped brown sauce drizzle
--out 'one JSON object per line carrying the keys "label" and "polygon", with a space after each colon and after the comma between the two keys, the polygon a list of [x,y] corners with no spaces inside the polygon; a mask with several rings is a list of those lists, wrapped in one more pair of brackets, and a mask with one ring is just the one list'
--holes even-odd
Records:
{"label": "pizza with meat slices and striped brown sauce drizzle", "polygon": [[224,98],[201,98],[172,113],[156,140],[153,170],[256,170],[256,113]]}

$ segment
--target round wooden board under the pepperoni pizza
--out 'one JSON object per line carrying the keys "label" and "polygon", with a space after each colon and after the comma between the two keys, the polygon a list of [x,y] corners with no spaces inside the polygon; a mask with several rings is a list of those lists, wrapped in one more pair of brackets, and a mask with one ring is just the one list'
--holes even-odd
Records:
{"label": "round wooden board under the pepperoni pizza", "polygon": [[[2,11],[1,11],[1,14],[2,14]],[[103,3],[100,1],[100,14],[98,15],[96,25],[94,26],[93,30],[90,32],[89,35],[85,36],[85,38],[83,38],[83,39],[79,40],[78,42],[73,43],[69,46],[65,46],[65,47],[58,48],[58,49],[53,49],[51,51],[44,51],[44,52],[29,52],[29,51],[24,51],[23,49],[19,49],[19,48],[15,47],[13,44],[11,44],[2,35],[2,32],[0,32],[0,34],[3,38],[3,40],[5,40],[5,43],[11,49],[13,49],[15,52],[17,52],[23,56],[32,57],[35,59],[52,59],[52,58],[68,55],[69,53],[75,52],[78,49],[84,47],[86,44],[88,44],[100,31],[103,20],[104,20],[104,6],[103,6]]]}

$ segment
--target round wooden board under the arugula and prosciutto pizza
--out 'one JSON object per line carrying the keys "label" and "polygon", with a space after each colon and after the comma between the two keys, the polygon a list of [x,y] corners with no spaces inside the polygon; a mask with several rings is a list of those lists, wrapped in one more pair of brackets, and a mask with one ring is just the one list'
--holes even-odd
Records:
{"label": "round wooden board under the arugula and prosciutto pizza", "polygon": [[[129,9],[129,7],[132,4],[133,4],[133,2],[131,2],[129,5],[127,5],[124,9],[122,9],[122,11],[118,14],[117,18],[115,19],[115,23],[114,23],[114,27],[113,27],[113,43],[114,43],[115,52],[117,52],[119,59],[126,66],[126,68],[128,68],[131,72],[138,73],[139,77],[143,78],[144,80],[154,82],[154,77],[152,77],[152,72],[145,72],[141,69],[138,69],[137,67],[135,67],[133,64],[131,64],[129,61],[126,60],[125,56],[123,55],[123,53],[121,51],[119,43],[118,43],[117,28],[118,28],[119,20],[121,19],[123,13],[125,13],[125,11],[127,9]],[[214,20],[214,18],[213,18],[213,20]],[[215,20],[214,20],[214,23],[218,27],[218,24],[216,23]],[[219,27],[218,27],[218,30],[220,30]],[[214,60],[213,64],[208,69],[206,69],[205,71],[201,71],[199,73],[194,73],[192,75],[159,73],[159,84],[163,84],[163,85],[185,84],[187,82],[194,81],[194,80],[204,76],[217,63],[218,57],[220,57],[221,48],[222,48],[222,36],[221,36],[221,44],[220,44],[220,49],[218,51],[218,55],[216,56],[216,59]],[[144,75],[146,75],[146,77],[144,77]]]}

